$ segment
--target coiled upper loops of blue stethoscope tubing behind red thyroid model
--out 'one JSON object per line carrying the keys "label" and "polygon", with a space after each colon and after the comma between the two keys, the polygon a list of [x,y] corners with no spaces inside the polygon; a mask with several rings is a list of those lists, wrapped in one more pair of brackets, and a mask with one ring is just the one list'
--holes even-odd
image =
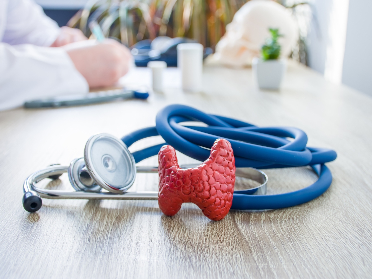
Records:
{"label": "coiled upper loops of blue stethoscope tubing behind red thyroid model", "polygon": [[[185,121],[199,121],[208,126],[178,124]],[[209,151],[205,148],[210,148],[218,138],[231,143],[236,167],[266,169],[273,166],[307,166],[333,161],[337,157],[333,150],[307,148],[307,135],[300,129],[257,127],[242,121],[209,115],[185,105],[166,106],[157,113],[155,122],[158,134],[167,144],[200,161],[208,158]],[[286,137],[294,140],[286,140]]]}

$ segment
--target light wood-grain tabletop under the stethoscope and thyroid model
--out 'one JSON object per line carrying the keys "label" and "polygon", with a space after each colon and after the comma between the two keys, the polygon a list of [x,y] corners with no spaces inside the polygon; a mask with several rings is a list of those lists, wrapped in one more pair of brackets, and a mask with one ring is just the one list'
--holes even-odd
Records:
{"label": "light wood-grain tabletop under the stethoscope and thyroid model", "polygon": [[[1,278],[371,278],[372,98],[291,64],[280,92],[256,88],[251,70],[204,69],[202,93],[183,93],[176,69],[166,90],[128,100],[59,109],[0,112]],[[124,84],[149,84],[136,69]],[[219,222],[184,204],[164,216],[157,201],[44,199],[29,214],[22,184],[51,163],[82,157],[86,140],[121,137],[154,125],[171,103],[259,126],[295,126],[309,146],[333,148],[333,183],[319,198],[266,212],[231,211]],[[161,139],[150,138],[138,150]],[[149,158],[142,165],[154,165]],[[194,160],[179,155],[179,162]],[[310,185],[308,167],[266,171],[268,193]],[[68,179],[45,187],[67,189]],[[156,190],[156,174],[138,174],[131,190]]]}

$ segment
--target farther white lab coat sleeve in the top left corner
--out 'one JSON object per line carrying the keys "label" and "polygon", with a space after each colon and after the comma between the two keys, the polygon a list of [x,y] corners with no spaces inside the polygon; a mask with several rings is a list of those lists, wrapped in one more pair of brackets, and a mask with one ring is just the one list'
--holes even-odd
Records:
{"label": "farther white lab coat sleeve in the top left corner", "polygon": [[33,0],[8,1],[3,42],[49,47],[60,32],[57,23]]}

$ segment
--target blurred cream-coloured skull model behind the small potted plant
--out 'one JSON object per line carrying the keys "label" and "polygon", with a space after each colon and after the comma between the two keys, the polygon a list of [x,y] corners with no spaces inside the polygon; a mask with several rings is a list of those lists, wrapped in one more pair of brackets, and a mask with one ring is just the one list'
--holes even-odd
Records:
{"label": "blurred cream-coloured skull model behind the small potted plant", "polygon": [[288,57],[298,40],[298,27],[285,7],[272,0],[251,0],[235,13],[226,26],[226,33],[216,45],[216,52],[208,57],[208,64],[235,67],[251,65],[260,56],[269,28],[278,28],[281,57]]}

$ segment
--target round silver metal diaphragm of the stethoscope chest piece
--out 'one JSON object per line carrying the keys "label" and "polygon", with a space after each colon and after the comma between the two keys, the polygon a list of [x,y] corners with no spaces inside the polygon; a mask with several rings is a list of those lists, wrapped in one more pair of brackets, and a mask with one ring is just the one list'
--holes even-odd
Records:
{"label": "round silver metal diaphragm of the stethoscope chest piece", "polygon": [[123,193],[134,183],[134,157],[123,141],[110,134],[89,138],[84,148],[84,162],[94,181],[109,192]]}

